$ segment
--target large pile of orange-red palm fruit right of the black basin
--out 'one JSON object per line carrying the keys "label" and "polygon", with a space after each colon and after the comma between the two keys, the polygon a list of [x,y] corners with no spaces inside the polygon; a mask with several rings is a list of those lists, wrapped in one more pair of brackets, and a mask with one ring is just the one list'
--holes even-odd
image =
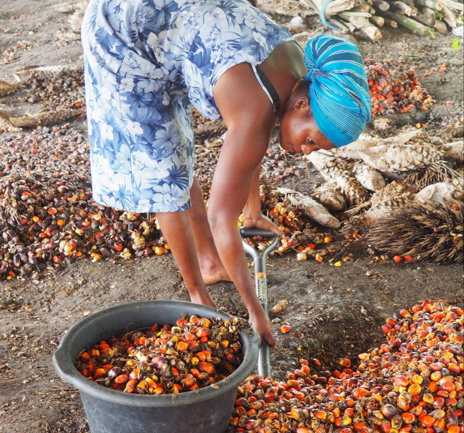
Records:
{"label": "large pile of orange-red palm fruit right of the black basin", "polygon": [[249,376],[229,432],[462,433],[463,310],[426,300],[382,327],[360,364],[317,371],[301,360],[284,381]]}

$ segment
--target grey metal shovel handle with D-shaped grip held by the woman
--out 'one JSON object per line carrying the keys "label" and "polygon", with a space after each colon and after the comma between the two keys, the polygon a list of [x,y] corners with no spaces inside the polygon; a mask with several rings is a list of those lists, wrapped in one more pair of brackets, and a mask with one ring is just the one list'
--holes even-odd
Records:
{"label": "grey metal shovel handle with D-shaped grip held by the woman", "polygon": [[[260,304],[263,306],[264,312],[268,314],[267,308],[267,276],[266,276],[266,257],[274,250],[279,241],[277,234],[269,230],[263,230],[256,227],[240,227],[240,234],[243,238],[251,238],[253,236],[263,236],[264,238],[274,238],[264,251],[259,254],[248,242],[243,239],[245,251],[253,258],[255,264],[255,288]],[[265,341],[261,343],[258,351],[258,375],[261,377],[271,376],[271,353],[269,344]]]}

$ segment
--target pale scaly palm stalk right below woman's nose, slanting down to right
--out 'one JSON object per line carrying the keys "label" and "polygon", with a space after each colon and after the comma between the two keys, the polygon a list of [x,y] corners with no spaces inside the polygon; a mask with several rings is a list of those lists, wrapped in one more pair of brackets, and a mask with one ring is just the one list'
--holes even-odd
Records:
{"label": "pale scaly palm stalk right below woman's nose, slanting down to right", "polygon": [[349,207],[367,199],[367,189],[354,178],[350,165],[345,160],[321,151],[304,155],[304,158],[313,163],[326,181],[334,182],[340,187]]}

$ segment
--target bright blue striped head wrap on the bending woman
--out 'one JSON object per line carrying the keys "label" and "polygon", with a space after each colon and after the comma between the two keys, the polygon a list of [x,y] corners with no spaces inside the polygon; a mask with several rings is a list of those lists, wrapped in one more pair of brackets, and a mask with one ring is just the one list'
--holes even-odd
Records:
{"label": "bright blue striped head wrap on the bending woman", "polygon": [[304,64],[317,126],[337,147],[356,140],[371,117],[364,62],[352,42],[320,34],[309,39]]}

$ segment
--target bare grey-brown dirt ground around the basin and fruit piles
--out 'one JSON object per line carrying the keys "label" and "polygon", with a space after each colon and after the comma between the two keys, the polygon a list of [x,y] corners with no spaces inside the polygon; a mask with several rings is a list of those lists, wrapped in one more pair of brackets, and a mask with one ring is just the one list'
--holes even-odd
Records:
{"label": "bare grey-brown dirt ground around the basin and fruit piles", "polygon": [[[22,40],[31,41],[31,50],[18,52],[3,64],[0,55],[0,78],[12,82],[12,73],[25,67],[79,61],[79,41],[54,44],[55,32],[68,28],[67,15],[51,7],[59,2],[1,2],[0,53]],[[276,17],[279,22],[290,18]],[[307,17],[306,22],[312,29],[320,26],[314,16]],[[462,127],[454,127],[463,116],[462,47],[453,52],[451,35],[432,39],[400,29],[382,29],[382,33],[383,39],[375,44],[356,35],[362,55],[414,66],[421,84],[437,101],[433,110],[419,111],[416,117],[391,116],[389,135],[406,123],[428,122],[440,136],[462,136]],[[422,77],[423,72],[442,63],[448,65],[445,74]],[[2,102],[6,104],[5,99]],[[38,105],[25,106],[15,97],[7,104],[0,104],[0,109],[7,108],[18,116],[26,110],[39,110]],[[73,125],[85,131],[83,120]],[[205,123],[197,132],[197,139],[204,141],[219,136],[223,129],[219,123]],[[311,174],[317,181],[316,174]],[[305,182],[307,179],[291,178],[283,184],[304,191]],[[422,299],[441,298],[462,307],[462,265],[397,265],[391,260],[375,264],[361,250],[355,249],[352,260],[342,267],[326,261],[298,262],[293,252],[269,258],[269,303],[283,306],[281,313],[271,312],[277,337],[277,349],[271,354],[275,377],[284,377],[301,357],[318,358],[324,368],[335,367],[341,356],[355,361],[358,353],[383,341],[380,325],[387,317]],[[232,283],[214,284],[210,291],[224,310],[246,317]],[[188,300],[172,255],[130,261],[106,259],[95,264],[79,259],[40,281],[0,282],[0,432],[89,432],[79,394],[58,378],[52,354],[64,332],[85,315],[144,299]],[[288,334],[280,333],[282,323],[290,325]]]}

